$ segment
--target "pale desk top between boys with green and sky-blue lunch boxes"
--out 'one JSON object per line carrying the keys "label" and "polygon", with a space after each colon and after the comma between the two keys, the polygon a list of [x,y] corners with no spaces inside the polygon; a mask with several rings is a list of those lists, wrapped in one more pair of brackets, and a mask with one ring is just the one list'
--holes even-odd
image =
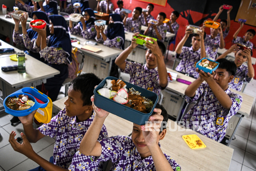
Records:
{"label": "pale desk top between boys with green and sky-blue lunch boxes", "polygon": [[[192,77],[188,77],[186,76],[185,74],[182,74],[182,73],[179,73],[175,70],[172,70],[170,68],[166,68],[167,71],[171,71],[171,72],[174,72],[174,73],[178,73],[178,76],[177,78],[180,78],[180,79],[183,79],[183,80],[187,80],[189,82],[193,82],[195,81],[196,79],[195,78],[192,78]],[[177,82],[177,81],[174,81],[174,82],[169,82],[168,86],[167,86],[167,90],[171,90],[172,92],[175,92],[177,94],[180,94],[182,96],[185,95],[185,90],[188,88],[188,85],[187,84],[184,84],[184,83],[181,83],[181,82]]]}

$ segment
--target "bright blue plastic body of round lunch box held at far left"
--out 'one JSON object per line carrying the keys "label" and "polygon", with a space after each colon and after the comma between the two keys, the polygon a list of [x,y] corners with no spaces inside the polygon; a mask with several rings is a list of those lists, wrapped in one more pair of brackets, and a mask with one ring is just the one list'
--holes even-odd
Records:
{"label": "bright blue plastic body of round lunch box held at far left", "polygon": [[[27,93],[25,93],[25,92],[27,92]],[[35,104],[31,108],[26,109],[26,110],[12,110],[12,109],[8,108],[5,104],[6,99],[8,97],[14,97],[14,96],[19,97],[20,94],[27,95],[29,98],[31,98],[35,102]],[[3,105],[5,108],[5,112],[9,113],[13,116],[26,116],[38,108],[45,108],[49,103],[49,99],[48,99],[47,95],[45,95],[43,93],[41,94],[41,93],[39,93],[39,91],[37,89],[30,88],[30,87],[25,87],[23,89],[20,89],[16,92],[10,94],[8,97],[6,97],[4,99]],[[43,103],[39,103],[38,101],[36,101],[35,98],[39,99]]]}

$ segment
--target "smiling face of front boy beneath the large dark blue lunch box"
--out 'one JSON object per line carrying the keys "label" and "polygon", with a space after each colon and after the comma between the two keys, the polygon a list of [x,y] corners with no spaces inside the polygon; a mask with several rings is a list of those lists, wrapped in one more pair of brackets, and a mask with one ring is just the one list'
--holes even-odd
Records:
{"label": "smiling face of front boy beneath the large dark blue lunch box", "polygon": [[[166,129],[163,129],[163,132],[157,135],[157,144],[158,144],[159,140],[163,140],[165,134],[166,134]],[[133,141],[134,145],[136,146],[138,152],[140,153],[140,157],[142,159],[151,156],[149,148],[147,147],[144,136],[142,134],[140,125],[133,124],[133,130],[132,130],[131,137],[132,137],[132,141]]]}

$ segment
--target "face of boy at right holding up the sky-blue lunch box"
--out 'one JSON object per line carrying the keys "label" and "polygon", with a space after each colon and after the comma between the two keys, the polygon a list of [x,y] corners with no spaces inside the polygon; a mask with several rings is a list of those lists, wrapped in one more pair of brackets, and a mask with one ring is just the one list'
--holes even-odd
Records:
{"label": "face of boy at right holding up the sky-blue lunch box", "polygon": [[213,79],[223,90],[226,90],[229,87],[229,82],[231,82],[233,78],[233,75],[229,75],[229,72],[222,68],[217,68],[213,75]]}

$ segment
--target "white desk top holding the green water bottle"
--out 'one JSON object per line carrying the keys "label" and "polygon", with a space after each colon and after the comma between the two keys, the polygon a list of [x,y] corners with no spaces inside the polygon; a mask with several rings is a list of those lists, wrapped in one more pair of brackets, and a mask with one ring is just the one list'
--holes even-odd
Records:
{"label": "white desk top holding the green water bottle", "polygon": [[[17,54],[20,50],[9,45],[8,43],[0,40],[2,46],[0,48],[13,48]],[[0,67],[17,65],[18,62],[10,60],[9,56],[12,54],[0,55]],[[31,83],[40,79],[51,78],[56,74],[60,74],[60,71],[52,68],[40,62],[39,60],[26,55],[26,73],[19,74],[18,71],[3,72],[0,70],[0,79],[6,82],[11,87],[20,86],[26,83]]]}

